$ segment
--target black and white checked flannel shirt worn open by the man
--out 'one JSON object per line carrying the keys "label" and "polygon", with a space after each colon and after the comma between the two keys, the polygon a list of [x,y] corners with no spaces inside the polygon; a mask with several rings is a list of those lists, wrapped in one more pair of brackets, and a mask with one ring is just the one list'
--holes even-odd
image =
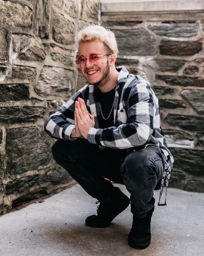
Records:
{"label": "black and white checked flannel shirt worn open by the man", "polygon": [[[80,97],[84,99],[87,110],[95,119],[95,127],[88,133],[90,143],[98,144],[100,148],[135,148],[135,150],[137,147],[145,148],[153,144],[160,147],[165,163],[169,170],[172,170],[173,157],[161,130],[158,99],[150,84],[140,76],[129,74],[124,66],[116,69],[119,75],[115,87],[113,127],[105,129],[99,127],[101,115],[99,89],[98,86],[87,84],[45,121],[45,131],[53,138],[72,140],[70,135],[75,128],[75,101]],[[167,187],[169,178],[163,178]]]}

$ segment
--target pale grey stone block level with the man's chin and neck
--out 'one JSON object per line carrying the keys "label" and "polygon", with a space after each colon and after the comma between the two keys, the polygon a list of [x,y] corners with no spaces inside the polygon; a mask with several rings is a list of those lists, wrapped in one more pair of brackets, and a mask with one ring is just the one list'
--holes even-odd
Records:
{"label": "pale grey stone block level with the man's chin and neck", "polygon": [[35,87],[39,95],[55,95],[71,97],[75,88],[75,79],[72,71],[64,68],[44,66],[38,83]]}

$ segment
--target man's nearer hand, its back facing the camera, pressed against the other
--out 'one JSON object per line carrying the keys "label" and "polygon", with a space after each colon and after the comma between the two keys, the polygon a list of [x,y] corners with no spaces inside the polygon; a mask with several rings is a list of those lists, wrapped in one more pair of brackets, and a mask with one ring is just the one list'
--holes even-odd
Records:
{"label": "man's nearer hand, its back facing the camera, pressed against the other", "polygon": [[89,113],[82,98],[78,98],[75,112],[79,131],[85,139],[88,139],[89,130],[94,128],[95,121],[94,116]]}

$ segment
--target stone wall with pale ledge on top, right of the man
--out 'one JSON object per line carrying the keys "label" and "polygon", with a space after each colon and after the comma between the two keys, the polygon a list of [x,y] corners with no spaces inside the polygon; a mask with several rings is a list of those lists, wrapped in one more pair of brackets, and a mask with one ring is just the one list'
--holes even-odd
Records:
{"label": "stone wall with pale ledge on top, right of the man", "polygon": [[175,159],[170,186],[204,192],[204,13],[198,10],[202,1],[196,2],[195,10],[185,10],[190,1],[182,1],[183,10],[176,11],[181,1],[150,2],[154,11],[148,10],[148,1],[146,7],[143,1],[104,2],[101,24],[116,35],[117,66],[125,65],[148,80],[159,98],[162,129]]}

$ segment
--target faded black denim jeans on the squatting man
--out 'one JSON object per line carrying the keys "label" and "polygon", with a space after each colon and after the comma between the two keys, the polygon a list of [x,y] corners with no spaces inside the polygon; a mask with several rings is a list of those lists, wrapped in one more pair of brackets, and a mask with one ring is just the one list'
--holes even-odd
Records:
{"label": "faded black denim jeans on the squatting man", "polygon": [[154,206],[154,189],[160,189],[163,174],[161,151],[156,146],[131,151],[121,163],[126,150],[99,149],[85,139],[58,140],[52,147],[55,161],[76,180],[83,189],[99,202],[110,202],[113,184],[126,186],[130,192],[131,211],[145,217]]}

